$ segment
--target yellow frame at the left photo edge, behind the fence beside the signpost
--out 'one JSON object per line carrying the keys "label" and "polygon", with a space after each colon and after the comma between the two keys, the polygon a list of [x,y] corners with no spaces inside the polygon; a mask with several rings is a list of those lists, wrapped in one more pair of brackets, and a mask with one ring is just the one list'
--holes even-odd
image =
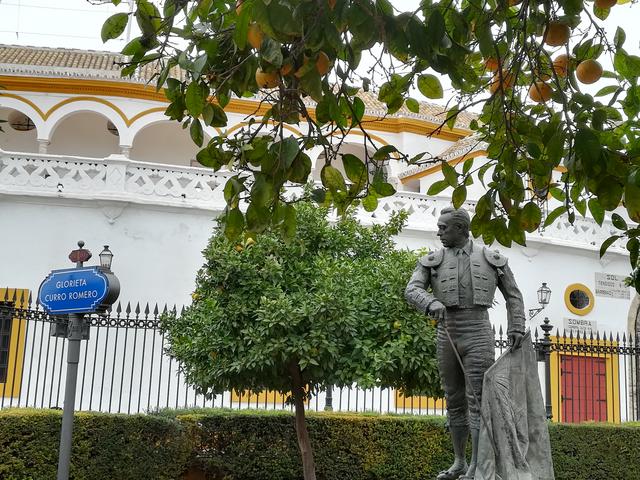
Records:
{"label": "yellow frame at the left photo edge, behind the fence beside the signpost", "polygon": [[[29,290],[15,288],[0,288],[0,301],[15,299],[15,308],[27,308]],[[18,397],[20,395],[23,357],[25,349],[27,321],[14,317],[11,321],[11,337],[9,339],[9,362],[7,366],[7,378],[0,383],[0,396]]]}

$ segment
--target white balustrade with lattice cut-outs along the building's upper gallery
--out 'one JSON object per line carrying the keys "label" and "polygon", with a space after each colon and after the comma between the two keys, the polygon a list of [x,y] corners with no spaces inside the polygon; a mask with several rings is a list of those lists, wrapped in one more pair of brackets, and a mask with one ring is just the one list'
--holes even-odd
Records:
{"label": "white balustrade with lattice cut-outs along the building's upper gallery", "polygon": [[[3,152],[0,150],[0,194],[56,196],[74,199],[113,200],[221,211],[225,207],[224,185],[230,172],[136,162],[121,155],[105,159]],[[374,212],[358,211],[368,223],[386,221],[393,211],[409,213],[407,228],[437,230],[437,219],[447,197],[398,192],[382,198]],[[473,212],[475,202],[466,202]],[[559,218],[528,239],[543,243],[597,250],[617,230],[609,220],[602,227],[591,218],[577,217],[573,224]],[[621,245],[612,251],[624,252]]]}

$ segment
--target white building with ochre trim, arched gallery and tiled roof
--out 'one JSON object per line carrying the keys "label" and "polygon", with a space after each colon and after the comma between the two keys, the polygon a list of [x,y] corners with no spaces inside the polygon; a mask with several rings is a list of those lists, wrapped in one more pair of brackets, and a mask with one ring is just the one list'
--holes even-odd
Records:
{"label": "white building with ochre trim, arched gallery and tiled roof", "polygon": [[[1,124],[4,133],[0,133],[0,287],[35,294],[50,270],[71,266],[66,257],[76,248],[76,242],[83,240],[94,257],[103,245],[109,245],[114,252],[113,270],[122,285],[123,308],[126,302],[190,302],[195,274],[203,263],[201,251],[212,234],[216,216],[225,206],[222,190],[229,172],[214,173],[198,166],[198,147],[188,131],[163,114],[167,106],[163,93],[146,85],[144,75],[134,80],[121,79],[114,65],[118,60],[120,56],[112,53],[0,46],[0,85],[4,88],[0,90],[0,119],[8,120]],[[409,155],[428,151],[452,165],[468,156],[482,157],[481,146],[470,139],[470,116],[461,118],[454,129],[434,133],[441,122],[438,114],[442,113],[436,106],[423,105],[420,114],[402,110],[385,117],[374,99],[367,97],[365,103],[371,119],[368,129],[379,146],[393,144]],[[226,109],[227,132],[245,125],[255,110],[255,102],[232,100]],[[301,134],[296,126],[289,131],[294,136]],[[221,133],[211,128],[205,132],[209,137]],[[362,137],[351,135],[343,148],[362,152]],[[314,176],[323,164],[320,155],[320,150],[310,154],[316,162]],[[382,222],[393,210],[406,209],[409,220],[398,246],[438,248],[436,221],[439,211],[450,201],[446,196],[428,196],[426,191],[442,178],[440,168],[408,168],[397,161],[389,165],[387,173],[398,193],[380,201],[373,214],[360,212],[361,220]],[[478,194],[476,190],[475,198]],[[466,204],[470,210],[473,199],[474,194]],[[621,284],[629,273],[628,253],[616,245],[604,258],[598,254],[600,244],[615,231],[610,219],[600,227],[590,218],[578,218],[573,225],[561,218],[546,230],[528,235],[526,247],[492,247],[509,257],[527,308],[539,307],[537,290],[542,282],[552,290],[549,305],[529,325],[532,330],[546,316],[554,326],[554,334],[556,328],[560,332],[571,328],[586,332],[587,336],[605,330],[627,336],[638,332],[638,302],[633,300],[631,289]],[[504,302],[498,302],[491,318],[497,329],[506,325]],[[18,320],[13,321],[12,332],[7,333],[11,330],[8,327],[4,330],[6,371],[4,384],[0,381],[0,394],[12,405],[58,406],[59,402],[45,398],[55,398],[53,383],[46,387],[49,390],[43,384],[35,393],[33,387],[27,386],[35,368],[29,359],[43,354],[37,340],[29,343],[26,326],[23,344],[20,343],[18,324]],[[44,332],[45,326],[38,328]],[[32,335],[35,332],[34,327]],[[105,388],[109,398],[122,396],[127,382],[132,384],[129,393],[134,390],[133,384],[145,375],[136,363],[144,365],[147,372],[152,368],[145,363],[144,350],[138,343],[142,338],[147,341],[151,333],[142,332],[140,338],[136,337],[132,348],[139,357],[134,355],[122,365],[116,358],[118,348],[129,349],[130,338],[124,344],[119,339],[118,346],[118,337],[111,332],[111,337],[105,339],[103,335],[100,339],[104,343],[86,346],[89,364],[91,359],[104,357],[98,370],[117,370],[111,381],[102,379],[101,400]],[[158,338],[148,338],[154,348]],[[106,360],[107,353],[115,355],[113,362]],[[22,355],[22,362],[15,360],[11,364],[11,355],[15,359]],[[63,352],[51,358],[47,368],[60,368]],[[612,358],[609,363],[619,361]],[[177,375],[175,365],[167,363],[164,368],[165,374],[170,371]],[[16,377],[18,370],[20,382],[9,382],[7,378]],[[619,392],[620,404],[622,399],[635,395],[627,391],[628,382],[623,380],[629,373],[623,374],[622,370],[619,364],[611,374],[619,379],[608,380]],[[58,391],[59,382],[63,382],[62,369],[60,372]],[[114,380],[118,375],[120,390],[116,388],[117,378]],[[176,404],[198,403],[193,392],[180,391],[176,385],[172,389],[166,380],[158,377],[154,381],[152,377],[140,383],[133,403],[141,403],[142,407],[133,410],[171,405],[169,401],[152,401],[152,391],[157,390],[157,397],[164,398],[165,387],[167,398],[182,398],[184,394],[185,401]],[[558,384],[559,380],[556,378],[555,382]],[[11,385],[9,390],[7,385]],[[20,390],[17,394],[16,388]],[[148,394],[143,395],[147,390]],[[383,403],[397,403],[397,395],[386,395],[391,400],[387,401],[383,392],[371,392],[369,400],[376,405],[379,402],[381,409]],[[610,403],[615,403],[613,397],[610,396]],[[98,406],[92,398],[87,395],[82,408],[114,410]],[[234,398],[229,394],[229,405]],[[324,402],[324,396],[319,398]],[[240,399],[235,400],[241,403]],[[365,400],[360,408],[368,408],[367,405]],[[617,418],[635,415],[629,411],[626,403],[625,407],[619,406]]]}

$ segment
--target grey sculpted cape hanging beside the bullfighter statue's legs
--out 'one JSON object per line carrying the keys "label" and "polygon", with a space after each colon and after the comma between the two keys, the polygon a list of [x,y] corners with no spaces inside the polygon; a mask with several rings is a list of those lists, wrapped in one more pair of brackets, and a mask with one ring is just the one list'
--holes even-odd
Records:
{"label": "grey sculpted cape hanging beside the bullfighter statue's legs", "polygon": [[475,480],[554,480],[531,332],[486,371]]}

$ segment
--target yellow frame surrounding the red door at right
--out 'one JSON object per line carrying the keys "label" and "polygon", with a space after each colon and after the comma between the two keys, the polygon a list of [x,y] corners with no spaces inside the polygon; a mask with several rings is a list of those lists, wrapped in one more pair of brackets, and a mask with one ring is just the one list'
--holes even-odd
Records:
{"label": "yellow frame surrounding the red door at right", "polygon": [[[557,337],[551,337],[551,342],[554,345],[588,345],[590,347],[617,347],[618,342],[609,340],[584,340],[584,339],[569,339],[563,337],[559,340]],[[554,422],[565,421],[562,418],[562,396],[560,383],[560,365],[561,356],[576,357],[576,358],[604,358],[605,359],[605,381],[606,381],[606,398],[607,398],[607,419],[609,422],[620,423],[620,367],[618,354],[612,353],[595,353],[595,348],[589,349],[589,354],[584,355],[579,352],[559,352],[552,350],[550,359],[551,370],[551,412],[553,415],[552,420]],[[591,353],[593,352],[593,353]]]}

